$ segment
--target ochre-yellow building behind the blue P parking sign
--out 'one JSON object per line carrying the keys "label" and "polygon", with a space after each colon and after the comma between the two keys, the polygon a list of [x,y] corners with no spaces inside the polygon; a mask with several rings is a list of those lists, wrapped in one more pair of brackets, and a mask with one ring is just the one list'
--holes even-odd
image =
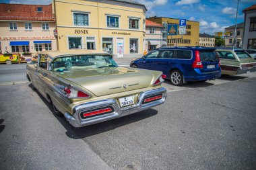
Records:
{"label": "ochre-yellow building behind the blue P parking sign", "polygon": [[[170,17],[150,17],[147,19],[166,26],[168,24],[177,24],[179,26],[179,19]],[[165,31],[163,37],[167,37],[166,41],[168,46],[199,46],[199,22],[187,20],[186,34],[183,36],[179,34],[174,36],[167,36],[166,34],[167,32]]]}

